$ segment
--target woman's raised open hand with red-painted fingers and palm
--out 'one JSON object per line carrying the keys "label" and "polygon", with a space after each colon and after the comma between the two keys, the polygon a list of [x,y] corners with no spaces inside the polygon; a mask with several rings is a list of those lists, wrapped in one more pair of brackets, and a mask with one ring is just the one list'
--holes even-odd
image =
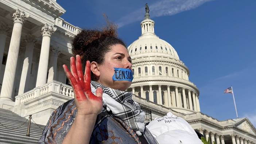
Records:
{"label": "woman's raised open hand with red-painted fingers and palm", "polygon": [[79,55],[76,55],[76,59],[74,57],[70,57],[71,72],[66,65],[63,65],[63,69],[73,87],[77,114],[83,116],[97,116],[97,114],[102,110],[102,89],[97,88],[96,95],[91,92],[90,62],[86,62],[84,75]]}

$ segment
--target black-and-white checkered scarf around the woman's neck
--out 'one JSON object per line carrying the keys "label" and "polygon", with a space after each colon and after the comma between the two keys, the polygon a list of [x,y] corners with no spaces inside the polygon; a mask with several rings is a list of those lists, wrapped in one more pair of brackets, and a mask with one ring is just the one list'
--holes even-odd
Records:
{"label": "black-and-white checkered scarf around the woman's neck", "polygon": [[112,111],[115,117],[124,121],[138,135],[144,132],[145,112],[141,110],[137,102],[132,100],[132,92],[111,89],[95,81],[91,81],[91,84],[93,93],[98,87],[102,88],[103,105],[108,111]]}

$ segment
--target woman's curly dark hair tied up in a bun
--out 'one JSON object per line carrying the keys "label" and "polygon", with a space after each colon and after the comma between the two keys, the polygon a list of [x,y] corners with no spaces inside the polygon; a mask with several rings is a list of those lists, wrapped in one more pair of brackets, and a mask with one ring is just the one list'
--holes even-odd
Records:
{"label": "woman's curly dark hair tied up in a bun", "polygon": [[[72,42],[72,53],[74,56],[80,55],[84,70],[86,61],[102,64],[106,52],[110,51],[111,46],[116,44],[126,47],[123,40],[117,37],[116,26],[108,24],[101,30],[84,29],[77,34]],[[98,80],[92,72],[91,79],[93,81]]]}

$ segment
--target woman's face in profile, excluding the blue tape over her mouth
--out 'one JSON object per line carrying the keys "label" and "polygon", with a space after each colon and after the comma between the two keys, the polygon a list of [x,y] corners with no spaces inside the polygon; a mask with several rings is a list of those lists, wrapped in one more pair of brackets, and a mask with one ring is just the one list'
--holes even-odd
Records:
{"label": "woman's face in profile, excluding the blue tape over her mouth", "polygon": [[131,86],[130,81],[113,81],[112,76],[116,68],[132,69],[132,59],[126,47],[116,44],[110,47],[111,50],[105,54],[104,62],[98,66],[100,76],[98,82],[118,90],[126,90]]}

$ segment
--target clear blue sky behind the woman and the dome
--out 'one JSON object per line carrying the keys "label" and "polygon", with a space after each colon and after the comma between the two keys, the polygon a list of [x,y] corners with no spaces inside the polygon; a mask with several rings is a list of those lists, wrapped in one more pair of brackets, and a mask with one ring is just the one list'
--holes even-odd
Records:
{"label": "clear blue sky behind the woman and the dome", "polygon": [[256,0],[57,0],[61,17],[81,28],[101,28],[108,19],[119,24],[127,45],[141,35],[144,5],[150,7],[155,33],[169,42],[197,85],[201,112],[218,120],[239,117],[256,127]]}

